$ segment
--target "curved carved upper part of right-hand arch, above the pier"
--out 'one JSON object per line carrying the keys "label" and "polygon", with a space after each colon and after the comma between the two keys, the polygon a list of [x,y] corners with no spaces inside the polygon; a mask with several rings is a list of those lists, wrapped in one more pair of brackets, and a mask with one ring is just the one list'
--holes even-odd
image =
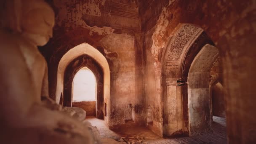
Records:
{"label": "curved carved upper part of right-hand arch, above the pier", "polygon": [[179,24],[163,51],[163,74],[166,76],[167,85],[176,85],[181,78],[181,64],[188,49],[202,34],[203,29],[192,24]]}

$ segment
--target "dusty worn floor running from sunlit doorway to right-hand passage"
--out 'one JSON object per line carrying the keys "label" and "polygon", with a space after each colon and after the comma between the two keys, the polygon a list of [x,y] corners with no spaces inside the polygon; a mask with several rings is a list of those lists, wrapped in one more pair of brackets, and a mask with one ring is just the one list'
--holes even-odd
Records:
{"label": "dusty worn floor running from sunlit doorway to right-hand passage", "polygon": [[104,120],[95,117],[86,118],[96,126],[103,144],[227,144],[226,121],[221,117],[213,117],[213,132],[191,137],[164,139],[144,127],[123,128],[111,131]]}

